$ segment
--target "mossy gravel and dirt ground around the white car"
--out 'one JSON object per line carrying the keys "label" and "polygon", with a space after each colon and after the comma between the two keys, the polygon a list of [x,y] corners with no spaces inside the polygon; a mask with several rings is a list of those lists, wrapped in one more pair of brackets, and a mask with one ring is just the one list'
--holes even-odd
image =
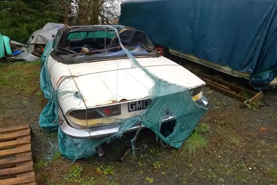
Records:
{"label": "mossy gravel and dirt ground around the white car", "polygon": [[[254,110],[205,88],[209,110],[200,124],[207,148],[190,155],[162,147],[141,132],[136,155],[117,162],[124,137],[107,145],[107,156],[72,164],[57,149],[57,134],[40,128],[47,101],[39,86],[40,62],[0,63],[0,127],[31,124],[37,184],[277,184],[277,89],[264,91]],[[259,127],[266,130],[261,131]]]}

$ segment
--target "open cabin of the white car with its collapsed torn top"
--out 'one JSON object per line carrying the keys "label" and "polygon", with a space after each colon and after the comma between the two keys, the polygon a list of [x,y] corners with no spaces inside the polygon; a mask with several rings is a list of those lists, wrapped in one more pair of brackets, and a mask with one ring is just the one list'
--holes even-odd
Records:
{"label": "open cabin of the white car with its collapsed torn top", "polygon": [[[155,52],[155,46],[145,36],[145,33],[127,29],[120,32],[121,44],[134,57],[160,56]],[[111,57],[127,57],[128,54],[120,47],[115,35],[114,31],[72,31],[59,41],[62,43],[51,51],[50,55],[57,61],[70,64],[110,59]]]}

